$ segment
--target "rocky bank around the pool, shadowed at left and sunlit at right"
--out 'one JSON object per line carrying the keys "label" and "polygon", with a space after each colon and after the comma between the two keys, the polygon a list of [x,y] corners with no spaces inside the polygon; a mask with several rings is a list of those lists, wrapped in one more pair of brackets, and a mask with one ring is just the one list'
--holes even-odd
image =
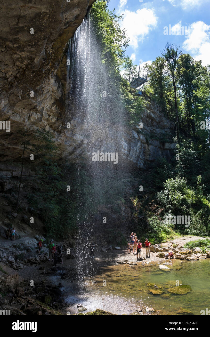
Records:
{"label": "rocky bank around the pool, shadowed at left and sunlit at right", "polygon": [[[48,261],[47,244],[43,244],[42,253],[37,254],[37,242],[39,236],[34,238],[17,239],[15,242],[1,237],[0,248],[0,306],[2,310],[10,310],[14,315],[59,315],[82,313],[83,305],[77,303],[77,298],[69,300],[71,292],[80,294],[79,285],[76,281],[78,266],[76,264],[76,250],[71,248],[72,242],[62,242],[63,264],[53,266],[53,262]],[[45,241],[42,237],[43,242]],[[135,254],[127,254],[126,249],[115,249],[114,247],[96,247],[96,256],[91,260],[91,266],[97,273],[107,266],[129,264],[131,267],[150,265],[150,262],[158,262],[159,267],[164,266],[169,269],[170,260],[164,259],[164,254],[173,250],[175,258],[186,259],[187,261],[197,261],[210,257],[209,251],[203,254],[200,247],[192,250],[183,248],[188,241],[205,239],[201,237],[185,236],[176,238],[163,244],[151,246],[151,258],[145,258],[145,249],[142,249],[142,261],[137,261]],[[55,242],[57,244],[57,242]],[[175,247],[176,246],[176,247]],[[66,254],[68,248],[70,254]],[[109,248],[109,249],[107,249]],[[114,249],[112,249],[114,248]],[[162,254],[160,256],[160,254]],[[189,259],[190,258],[190,259]],[[87,266],[90,265],[89,259]],[[84,270],[87,267],[84,265]],[[161,268],[160,268],[161,269]],[[81,285],[81,284],[80,284]],[[86,281],[83,281],[83,291],[85,292]],[[88,286],[87,286],[88,288]],[[151,287],[152,292],[160,289]],[[162,291],[162,290],[161,290]],[[88,294],[88,293],[87,293]],[[90,296],[90,294],[89,294]],[[89,298],[87,296],[87,298]],[[97,296],[91,297],[94,303],[99,302]],[[94,299],[95,297],[95,299]],[[108,297],[107,297],[108,298]],[[74,303],[73,303],[74,302]],[[119,314],[112,308],[112,299],[108,301],[110,310]],[[120,307],[124,308],[125,303],[121,299]],[[70,305],[70,307],[69,307]],[[77,307],[75,307],[77,305]],[[75,307],[75,308],[74,308]],[[91,307],[91,306],[90,306]],[[138,314],[158,314],[156,311],[146,311],[142,303]],[[126,310],[126,306],[124,308]],[[93,310],[94,311],[94,310]],[[88,314],[99,314],[99,312]],[[101,313],[106,314],[106,313]]]}

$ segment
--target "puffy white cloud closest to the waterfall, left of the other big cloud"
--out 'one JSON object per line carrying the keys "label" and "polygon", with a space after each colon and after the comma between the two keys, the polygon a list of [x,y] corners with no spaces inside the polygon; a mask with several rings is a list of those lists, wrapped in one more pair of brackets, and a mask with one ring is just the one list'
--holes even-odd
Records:
{"label": "puffy white cloud closest to the waterfall, left of the other big cloud", "polygon": [[129,45],[134,49],[138,48],[139,41],[142,41],[157,24],[157,17],[153,9],[137,9],[131,12],[127,9],[124,11],[121,28],[125,28],[130,38]]}

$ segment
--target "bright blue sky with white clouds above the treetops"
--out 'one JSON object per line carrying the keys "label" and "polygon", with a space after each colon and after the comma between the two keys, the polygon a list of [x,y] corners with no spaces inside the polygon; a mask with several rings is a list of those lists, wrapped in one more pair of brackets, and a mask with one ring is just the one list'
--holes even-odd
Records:
{"label": "bright blue sky with white clouds above the treetops", "polygon": [[139,64],[140,59],[142,65],[151,63],[160,56],[167,42],[180,44],[183,52],[201,59],[203,65],[210,63],[209,0],[140,1],[111,0],[109,3],[110,10],[115,8],[118,15],[124,13],[121,27],[130,37],[127,55],[134,64]]}

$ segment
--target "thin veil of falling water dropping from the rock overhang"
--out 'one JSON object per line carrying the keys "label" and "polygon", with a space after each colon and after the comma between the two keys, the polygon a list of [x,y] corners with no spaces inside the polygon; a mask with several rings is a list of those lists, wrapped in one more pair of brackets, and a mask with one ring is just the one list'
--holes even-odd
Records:
{"label": "thin veil of falling water dropping from the rock overhang", "polygon": [[[124,110],[119,88],[113,83],[110,69],[101,60],[100,42],[94,31],[94,19],[87,14],[73,38],[69,40],[67,59],[67,118],[82,130],[85,165],[77,164],[77,266],[79,280],[97,271],[97,259],[90,258],[90,243],[100,247],[103,217],[97,218],[98,207],[109,200],[115,190],[113,175],[120,179],[121,132]],[[76,130],[75,129],[75,130]],[[73,131],[77,132],[77,131]],[[92,161],[92,153],[118,153],[119,163]],[[110,199],[111,200],[111,199]],[[104,217],[109,215],[104,213]],[[99,232],[100,228],[100,232]]]}

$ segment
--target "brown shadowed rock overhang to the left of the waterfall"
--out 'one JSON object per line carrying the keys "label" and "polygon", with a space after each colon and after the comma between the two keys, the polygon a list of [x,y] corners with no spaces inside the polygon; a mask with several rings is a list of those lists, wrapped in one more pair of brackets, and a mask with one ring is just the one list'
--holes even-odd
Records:
{"label": "brown shadowed rock overhang to the left of the waterfall", "polygon": [[[65,109],[65,46],[94,0],[8,0],[1,4],[2,160],[21,154],[19,132],[46,128],[60,140]],[[33,91],[33,93],[32,93]],[[60,141],[62,142],[62,141]]]}

